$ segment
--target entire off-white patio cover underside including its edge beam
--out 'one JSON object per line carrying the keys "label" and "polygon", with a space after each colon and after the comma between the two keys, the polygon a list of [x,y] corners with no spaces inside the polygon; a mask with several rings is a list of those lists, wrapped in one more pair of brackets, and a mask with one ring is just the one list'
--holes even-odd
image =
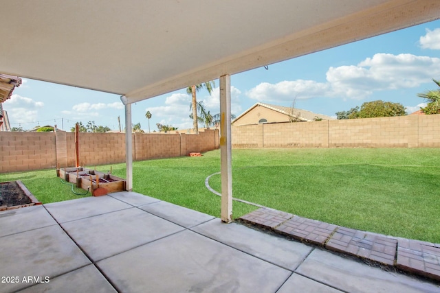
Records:
{"label": "entire off-white patio cover underside including its edge beam", "polygon": [[3,1],[0,72],[127,103],[439,19],[439,0]]}

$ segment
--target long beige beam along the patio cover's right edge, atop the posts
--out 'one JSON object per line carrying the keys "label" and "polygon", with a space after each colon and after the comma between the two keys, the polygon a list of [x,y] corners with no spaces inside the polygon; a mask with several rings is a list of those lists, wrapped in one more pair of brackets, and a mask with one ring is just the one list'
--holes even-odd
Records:
{"label": "long beige beam along the patio cover's right edge, atop the posts", "polygon": [[391,1],[135,89],[126,93],[122,102],[140,102],[184,89],[190,84],[215,80],[223,75],[234,75],[437,19],[440,19],[440,1]]}

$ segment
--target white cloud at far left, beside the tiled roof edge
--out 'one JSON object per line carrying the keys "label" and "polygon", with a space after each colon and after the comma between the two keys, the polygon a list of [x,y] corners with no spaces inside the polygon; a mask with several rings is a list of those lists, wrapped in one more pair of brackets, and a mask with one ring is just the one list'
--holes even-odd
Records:
{"label": "white cloud at far left, beside the tiled roof edge", "polygon": [[43,102],[36,102],[30,97],[21,97],[17,94],[3,102],[3,110],[8,112],[11,124],[37,121],[38,110],[43,106]]}

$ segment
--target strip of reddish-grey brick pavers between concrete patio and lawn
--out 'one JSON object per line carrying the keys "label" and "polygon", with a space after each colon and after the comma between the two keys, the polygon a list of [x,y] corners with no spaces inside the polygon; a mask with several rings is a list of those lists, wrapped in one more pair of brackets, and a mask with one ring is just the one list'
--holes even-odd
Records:
{"label": "strip of reddish-grey brick pavers between concrete patio and lawn", "polygon": [[237,221],[440,281],[440,244],[358,231],[267,208]]}

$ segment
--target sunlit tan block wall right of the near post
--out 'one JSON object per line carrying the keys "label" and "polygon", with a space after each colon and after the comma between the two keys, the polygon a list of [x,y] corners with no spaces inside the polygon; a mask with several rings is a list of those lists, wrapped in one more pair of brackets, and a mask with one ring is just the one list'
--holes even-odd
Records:
{"label": "sunlit tan block wall right of the near post", "polygon": [[440,115],[232,126],[232,148],[439,148]]}

